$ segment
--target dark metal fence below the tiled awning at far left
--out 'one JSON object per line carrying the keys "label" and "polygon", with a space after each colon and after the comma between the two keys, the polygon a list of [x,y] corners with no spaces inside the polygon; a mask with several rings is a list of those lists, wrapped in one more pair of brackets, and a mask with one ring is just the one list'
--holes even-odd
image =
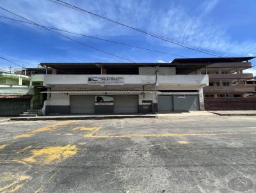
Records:
{"label": "dark metal fence below the tiled awning at far left", "polygon": [[0,116],[22,114],[30,109],[30,99],[0,98]]}

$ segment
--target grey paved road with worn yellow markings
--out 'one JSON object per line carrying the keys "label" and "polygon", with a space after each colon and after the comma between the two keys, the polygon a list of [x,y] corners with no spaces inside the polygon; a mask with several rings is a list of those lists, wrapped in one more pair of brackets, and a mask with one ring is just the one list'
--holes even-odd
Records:
{"label": "grey paved road with worn yellow markings", "polygon": [[255,117],[9,121],[0,132],[0,192],[256,192]]}

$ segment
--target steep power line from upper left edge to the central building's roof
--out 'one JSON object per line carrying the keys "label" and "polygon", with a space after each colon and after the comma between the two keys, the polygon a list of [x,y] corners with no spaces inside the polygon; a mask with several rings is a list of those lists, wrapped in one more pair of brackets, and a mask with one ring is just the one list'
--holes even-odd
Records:
{"label": "steep power line from upper left edge to the central building's roof", "polygon": [[63,36],[64,38],[67,38],[68,40],[72,40],[73,42],[79,43],[79,44],[84,45],[84,46],[86,46],[86,47],[90,47],[91,49],[98,50],[99,52],[103,52],[103,53],[105,53],[105,54],[109,54],[109,55],[111,55],[111,56],[115,56],[116,58],[124,59],[124,60],[126,60],[126,61],[135,63],[135,62],[132,61],[131,59],[123,58],[123,57],[118,56],[118,55],[116,55],[116,54],[112,54],[112,53],[110,53],[110,52],[106,52],[106,51],[104,51],[104,50],[100,50],[100,49],[98,49],[98,48],[96,48],[96,47],[93,47],[93,46],[88,45],[88,44],[83,43],[83,42],[79,42],[79,41],[77,41],[77,40],[74,40],[73,38],[70,38],[70,37],[65,36],[65,35],[63,35],[63,34],[61,34],[61,33],[58,33],[58,32],[56,32],[56,31],[53,31],[53,30],[51,30],[51,29],[49,29],[49,28],[47,28],[47,27],[45,27],[45,26],[41,26],[40,24],[37,24],[36,22],[33,22],[32,20],[26,19],[25,17],[22,17],[21,15],[18,15],[17,13],[13,13],[13,12],[11,12],[10,10],[6,10],[5,8],[3,8],[3,7],[1,7],[1,6],[0,6],[0,9],[4,10],[4,11],[6,11],[6,12],[12,13],[13,15],[16,15],[17,17],[20,17],[20,18],[22,18],[22,19],[24,19],[24,20],[28,20],[29,22],[32,22],[33,24],[36,24],[37,26],[43,27],[44,29],[47,29],[48,31],[51,31],[52,33],[55,33],[56,35]]}

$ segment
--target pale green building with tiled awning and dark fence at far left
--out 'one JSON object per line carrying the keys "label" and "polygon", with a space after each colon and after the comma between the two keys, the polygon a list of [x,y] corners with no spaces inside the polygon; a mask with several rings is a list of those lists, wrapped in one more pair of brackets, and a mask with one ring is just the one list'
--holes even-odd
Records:
{"label": "pale green building with tiled awning and dark fence at far left", "polygon": [[18,115],[30,109],[33,87],[30,77],[0,72],[0,116]]}

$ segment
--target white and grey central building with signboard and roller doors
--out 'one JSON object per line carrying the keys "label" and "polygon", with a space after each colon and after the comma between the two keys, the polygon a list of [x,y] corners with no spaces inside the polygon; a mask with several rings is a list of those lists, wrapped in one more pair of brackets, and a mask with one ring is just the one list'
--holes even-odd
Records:
{"label": "white and grey central building with signboard and roller doors", "polygon": [[[207,64],[206,64],[207,65]],[[205,64],[41,63],[45,114],[150,113],[204,110]]]}

